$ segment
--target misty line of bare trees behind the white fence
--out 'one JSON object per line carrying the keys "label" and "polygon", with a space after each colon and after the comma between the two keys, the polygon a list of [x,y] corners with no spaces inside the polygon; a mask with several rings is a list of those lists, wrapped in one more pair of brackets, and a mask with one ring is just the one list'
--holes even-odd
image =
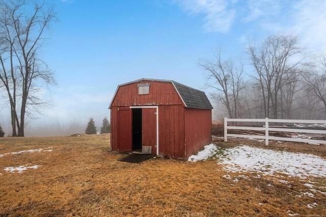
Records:
{"label": "misty line of bare trees behind the white fence", "polygon": [[[250,43],[242,59],[200,60],[210,97],[229,118],[326,118],[326,52],[308,54],[292,35]],[[219,108],[221,109],[221,108]]]}

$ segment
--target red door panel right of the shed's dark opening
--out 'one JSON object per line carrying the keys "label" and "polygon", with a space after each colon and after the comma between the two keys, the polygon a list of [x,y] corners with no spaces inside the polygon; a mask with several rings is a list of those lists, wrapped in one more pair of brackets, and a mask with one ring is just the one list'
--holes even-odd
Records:
{"label": "red door panel right of the shed's dark opening", "polygon": [[156,153],[156,108],[142,108],[142,153]]}

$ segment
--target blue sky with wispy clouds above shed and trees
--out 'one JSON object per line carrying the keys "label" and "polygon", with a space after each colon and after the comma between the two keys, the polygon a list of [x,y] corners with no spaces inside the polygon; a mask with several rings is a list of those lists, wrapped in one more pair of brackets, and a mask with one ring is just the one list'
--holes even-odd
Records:
{"label": "blue sky with wispy clouds above shed and trees", "polygon": [[[59,21],[46,34],[42,58],[58,85],[44,89],[54,107],[27,119],[26,136],[83,133],[90,117],[100,128],[117,86],[140,78],[204,90],[197,62],[220,46],[225,58],[243,56],[249,42],[271,34],[297,35],[313,52],[326,46],[324,0],[46,2],[56,5]],[[9,109],[0,109],[8,133]]]}

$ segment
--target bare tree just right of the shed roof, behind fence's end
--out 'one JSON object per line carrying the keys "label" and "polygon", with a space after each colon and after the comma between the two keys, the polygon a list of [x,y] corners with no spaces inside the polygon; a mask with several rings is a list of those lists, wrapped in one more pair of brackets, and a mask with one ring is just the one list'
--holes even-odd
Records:
{"label": "bare tree just right of the shed roof, behind fence's end", "polygon": [[214,57],[213,61],[201,60],[198,65],[207,73],[207,86],[218,91],[211,94],[212,98],[225,105],[230,118],[237,118],[243,65],[231,58],[223,61],[221,48]]}

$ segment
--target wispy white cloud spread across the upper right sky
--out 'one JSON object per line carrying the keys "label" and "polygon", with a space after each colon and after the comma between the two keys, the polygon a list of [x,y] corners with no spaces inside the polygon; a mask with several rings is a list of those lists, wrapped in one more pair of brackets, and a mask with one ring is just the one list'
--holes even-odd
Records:
{"label": "wispy white cloud spread across the upper right sky", "polygon": [[[254,40],[270,34],[293,34],[313,50],[326,48],[324,0],[175,0],[189,14],[204,16],[207,32],[228,33],[241,29],[243,38]],[[241,37],[241,36],[240,36]],[[240,39],[239,39],[240,40]]]}

